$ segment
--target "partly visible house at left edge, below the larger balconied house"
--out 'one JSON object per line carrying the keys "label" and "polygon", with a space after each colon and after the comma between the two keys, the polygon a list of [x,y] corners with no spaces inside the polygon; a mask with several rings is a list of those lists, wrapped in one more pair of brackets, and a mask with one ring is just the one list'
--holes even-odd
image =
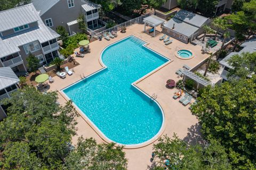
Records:
{"label": "partly visible house at left edge, below the larger balconied house", "polygon": [[19,88],[20,79],[15,75],[11,67],[0,68],[0,120],[6,117],[6,109],[2,101],[10,98],[10,95]]}

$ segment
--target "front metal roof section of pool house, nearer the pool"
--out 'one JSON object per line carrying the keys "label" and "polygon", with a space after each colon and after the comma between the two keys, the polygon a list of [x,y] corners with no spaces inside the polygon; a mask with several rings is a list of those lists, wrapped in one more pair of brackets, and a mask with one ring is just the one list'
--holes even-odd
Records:
{"label": "front metal roof section of pool house, nearer the pool", "polygon": [[[173,28],[174,24],[174,28]],[[190,37],[193,35],[199,28],[189,25],[186,22],[183,22],[177,18],[172,18],[164,24],[164,27],[167,27],[171,30],[176,31],[177,33],[186,35]],[[173,29],[172,29],[173,28]]]}

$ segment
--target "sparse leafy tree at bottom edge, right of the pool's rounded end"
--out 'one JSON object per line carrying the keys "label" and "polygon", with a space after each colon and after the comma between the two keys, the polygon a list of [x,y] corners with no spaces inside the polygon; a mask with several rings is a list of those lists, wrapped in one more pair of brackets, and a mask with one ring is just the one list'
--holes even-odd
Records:
{"label": "sparse leafy tree at bottom edge, right of the pool's rounded end", "polygon": [[[227,153],[219,142],[188,145],[176,134],[158,139],[153,146],[153,169],[230,169]],[[168,164],[169,163],[169,164]]]}

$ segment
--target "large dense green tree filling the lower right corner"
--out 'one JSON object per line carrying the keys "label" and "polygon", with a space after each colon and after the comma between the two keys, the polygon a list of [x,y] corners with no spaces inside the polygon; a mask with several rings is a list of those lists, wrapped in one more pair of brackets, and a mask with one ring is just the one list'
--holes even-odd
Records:
{"label": "large dense green tree filling the lower right corner", "polygon": [[256,166],[256,77],[205,87],[191,106],[205,139],[220,141],[233,169]]}

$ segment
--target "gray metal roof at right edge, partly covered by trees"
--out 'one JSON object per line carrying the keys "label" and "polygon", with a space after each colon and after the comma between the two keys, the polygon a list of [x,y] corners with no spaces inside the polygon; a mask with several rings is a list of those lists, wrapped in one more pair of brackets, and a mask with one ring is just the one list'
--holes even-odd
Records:
{"label": "gray metal roof at right edge, partly covered by trees", "polygon": [[230,54],[228,54],[224,59],[222,59],[220,61],[220,64],[222,66],[226,66],[228,68],[232,68],[229,63],[228,60],[233,56],[233,55],[241,55],[242,53],[253,53],[256,52],[256,38],[251,38],[248,41],[244,42],[241,47],[244,47],[241,51],[239,52],[231,52]]}

